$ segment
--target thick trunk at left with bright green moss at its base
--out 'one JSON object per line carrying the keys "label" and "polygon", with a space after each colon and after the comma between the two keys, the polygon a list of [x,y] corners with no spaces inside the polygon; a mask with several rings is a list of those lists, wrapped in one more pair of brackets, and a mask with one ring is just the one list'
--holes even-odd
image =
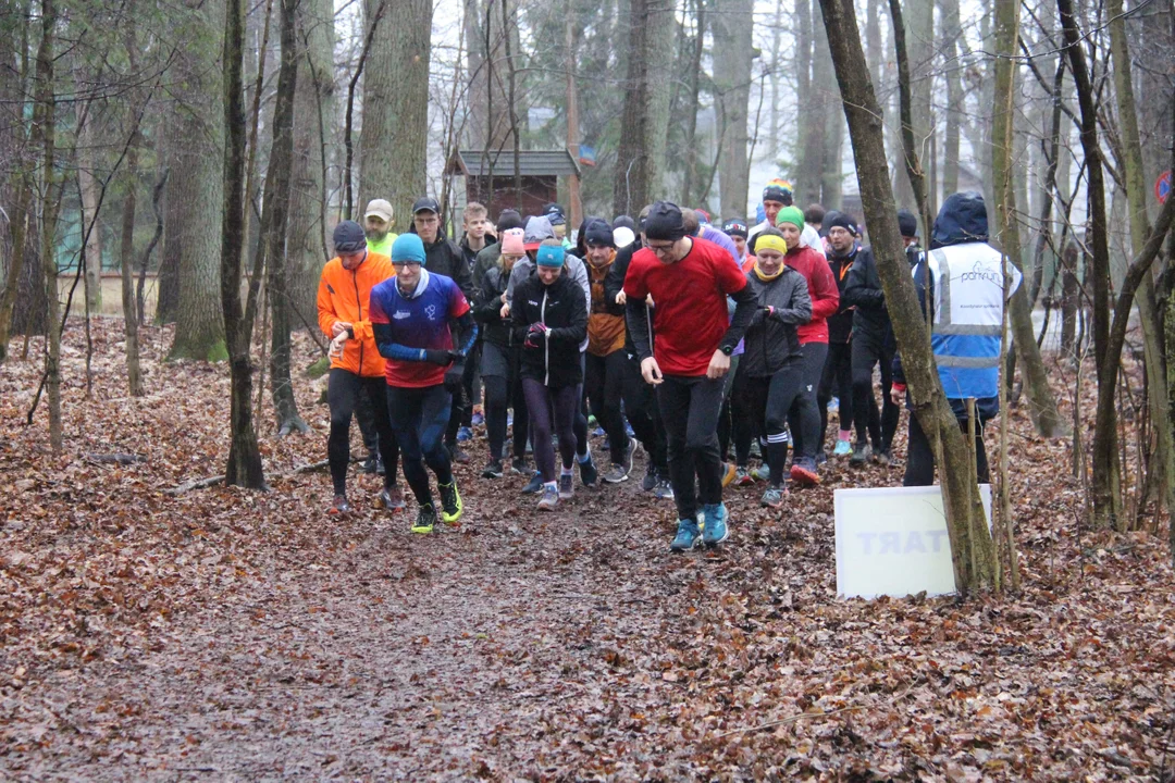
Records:
{"label": "thick trunk at left with bright green moss at its base", "polygon": [[221,207],[224,202],[224,126],[219,32],[226,0],[206,0],[190,16],[193,43],[176,59],[174,115],[168,120],[168,235],[177,254],[175,338],[169,358],[220,362],[228,358],[224,316],[217,297],[221,266]]}

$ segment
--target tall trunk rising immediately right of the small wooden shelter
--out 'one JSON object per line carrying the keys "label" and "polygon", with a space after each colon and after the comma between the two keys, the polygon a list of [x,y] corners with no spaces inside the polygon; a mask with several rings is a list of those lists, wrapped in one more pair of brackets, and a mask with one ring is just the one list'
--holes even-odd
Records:
{"label": "tall trunk rising immediately right of the small wooden shelter", "polygon": [[664,196],[665,150],[672,93],[673,0],[632,0],[629,72],[617,150],[612,208],[636,214]]}

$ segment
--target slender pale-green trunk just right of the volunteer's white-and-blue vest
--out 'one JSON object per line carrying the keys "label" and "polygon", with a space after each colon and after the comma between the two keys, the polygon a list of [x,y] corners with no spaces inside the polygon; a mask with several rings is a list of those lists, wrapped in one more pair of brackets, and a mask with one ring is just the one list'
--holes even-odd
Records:
{"label": "slender pale-green trunk just right of the volunteer's white-and-blue vest", "polygon": [[[1020,261],[1020,230],[1016,222],[1014,190],[1015,157],[1013,156],[1015,110],[1015,63],[1012,56],[1019,50],[1020,1],[995,0],[995,104],[992,116],[992,169],[995,174],[995,210],[1000,218],[1000,248],[1016,269],[1023,272]],[[1036,432],[1046,438],[1067,433],[1066,421],[1056,410],[1056,398],[1048,385],[1048,372],[1036,346],[1032,325],[1032,305],[1026,285],[1012,293],[1010,323],[1013,349],[1020,359],[1028,410]]]}

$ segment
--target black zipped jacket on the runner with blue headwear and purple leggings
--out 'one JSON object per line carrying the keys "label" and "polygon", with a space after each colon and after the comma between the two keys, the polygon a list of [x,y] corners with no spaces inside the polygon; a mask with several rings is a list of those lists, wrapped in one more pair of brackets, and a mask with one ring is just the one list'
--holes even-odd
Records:
{"label": "black zipped jacket on the runner with blue headwear and purple leggings", "polygon": [[[515,288],[510,317],[513,340],[523,345],[522,378],[533,378],[551,389],[583,383],[579,343],[588,337],[588,302],[579,283],[560,275],[551,285],[544,285],[538,275],[531,275]],[[526,331],[537,323],[546,324],[551,335],[536,338],[536,347],[526,347]]]}

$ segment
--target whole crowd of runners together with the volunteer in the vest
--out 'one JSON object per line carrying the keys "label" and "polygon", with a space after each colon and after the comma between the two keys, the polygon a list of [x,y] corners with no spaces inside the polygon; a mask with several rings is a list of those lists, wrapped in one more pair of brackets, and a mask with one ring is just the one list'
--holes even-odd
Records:
{"label": "whole crowd of runners together with the volunteer in the vest", "polygon": [[[461,438],[474,423],[484,423],[489,448],[481,477],[529,475],[523,492],[543,511],[573,497],[577,472],[582,486],[626,481],[639,443],[642,488],[677,506],[674,551],[728,536],[723,491],[732,482],[763,481],[771,508],[788,485],[819,484],[834,394],[832,454],[889,465],[905,385],[877,263],[850,215],[792,201],[791,185],[773,180],[758,224],[720,228],[701,210],[659,201],[636,218],[584,220],[575,244],[558,204],[526,218],[502,210],[491,227],[470,203],[455,242],[434,198],[414,204],[400,236],[391,205],[370,202],[363,225],[336,227],[337,256],[318,286],[331,339],[330,512],[350,509],[356,413],[365,467],[383,475],[377,504],[405,507],[402,466],[415,533],[461,518],[452,461],[468,461]],[[899,212],[899,224],[947,397],[979,400],[985,478],[1005,286],[982,196],[947,198],[929,254],[912,214]],[[956,412],[965,418],[961,404]],[[603,471],[589,417],[606,436]],[[756,451],[761,465],[752,470]],[[912,418],[905,484],[933,477],[933,452]]]}

